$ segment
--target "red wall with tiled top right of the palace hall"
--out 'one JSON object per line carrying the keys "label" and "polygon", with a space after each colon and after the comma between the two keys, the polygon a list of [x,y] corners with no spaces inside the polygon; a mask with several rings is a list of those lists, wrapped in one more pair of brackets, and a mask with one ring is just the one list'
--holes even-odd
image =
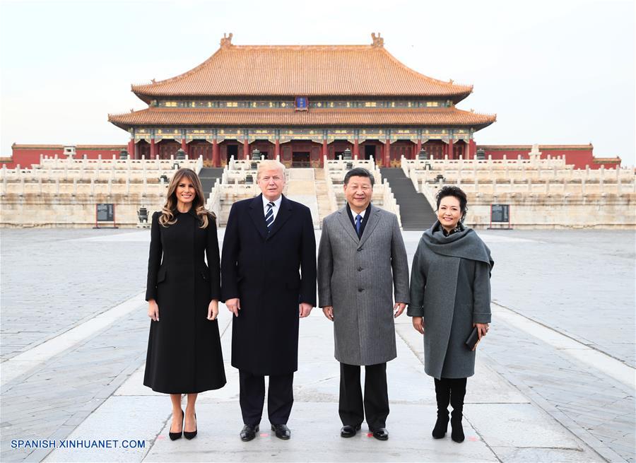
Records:
{"label": "red wall with tiled top right of the palace hall", "polygon": [[[488,159],[503,159],[504,155],[508,159],[517,159],[521,155],[522,159],[528,159],[528,153],[532,146],[530,145],[477,145],[477,149],[483,149],[484,156]],[[572,164],[575,169],[584,169],[589,165],[590,169],[599,169],[601,165],[611,169],[616,165],[620,166],[620,158],[598,159],[594,158],[594,146],[589,145],[539,145],[538,150],[541,151],[541,159],[548,156],[556,158],[565,155],[565,163]]]}

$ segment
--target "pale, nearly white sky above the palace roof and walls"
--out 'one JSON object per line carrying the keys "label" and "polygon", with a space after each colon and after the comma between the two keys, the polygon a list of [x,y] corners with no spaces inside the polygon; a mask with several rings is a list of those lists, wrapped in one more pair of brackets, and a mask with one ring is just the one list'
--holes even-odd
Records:
{"label": "pale, nearly white sky above the palace roof and walls", "polygon": [[108,113],[131,83],[182,74],[235,45],[367,45],[471,84],[496,113],[478,144],[594,144],[635,164],[635,6],[589,0],[1,1],[0,156],[11,143],[124,144]]}

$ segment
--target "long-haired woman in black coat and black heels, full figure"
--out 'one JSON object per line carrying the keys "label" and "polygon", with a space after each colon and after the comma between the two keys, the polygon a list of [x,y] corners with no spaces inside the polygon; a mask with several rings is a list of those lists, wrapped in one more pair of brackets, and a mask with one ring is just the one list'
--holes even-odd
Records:
{"label": "long-haired woman in black coat and black heels, full figure", "polygon": [[[187,439],[196,436],[197,394],[225,385],[219,298],[216,217],[204,207],[196,173],[179,169],[163,210],[153,214],[146,288],[152,321],[143,377],[153,391],[170,394],[172,440],[182,433]],[[185,412],[182,394],[188,396]]]}

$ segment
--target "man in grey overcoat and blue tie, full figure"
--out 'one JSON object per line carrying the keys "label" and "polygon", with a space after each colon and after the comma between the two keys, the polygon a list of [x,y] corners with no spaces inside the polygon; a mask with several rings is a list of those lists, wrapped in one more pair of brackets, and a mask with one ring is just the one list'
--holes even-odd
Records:
{"label": "man in grey overcoat and blue tie, full figure", "polygon": [[[408,303],[408,260],[396,215],[371,206],[373,183],[368,170],[349,170],[346,206],[324,218],[318,298],[334,322],[340,435],[353,437],[366,414],[373,436],[387,440],[387,362],[397,356],[393,319]],[[360,365],[365,365],[364,399]]]}

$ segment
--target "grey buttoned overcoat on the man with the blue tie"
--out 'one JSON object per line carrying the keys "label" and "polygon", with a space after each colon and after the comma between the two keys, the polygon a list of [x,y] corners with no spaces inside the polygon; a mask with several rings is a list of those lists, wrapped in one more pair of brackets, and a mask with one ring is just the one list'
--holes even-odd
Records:
{"label": "grey buttoned overcoat on the man with the blue tie", "polygon": [[397,356],[393,297],[408,303],[408,259],[395,214],[373,206],[360,239],[347,214],[322,223],[319,306],[334,307],[336,359],[376,365]]}

